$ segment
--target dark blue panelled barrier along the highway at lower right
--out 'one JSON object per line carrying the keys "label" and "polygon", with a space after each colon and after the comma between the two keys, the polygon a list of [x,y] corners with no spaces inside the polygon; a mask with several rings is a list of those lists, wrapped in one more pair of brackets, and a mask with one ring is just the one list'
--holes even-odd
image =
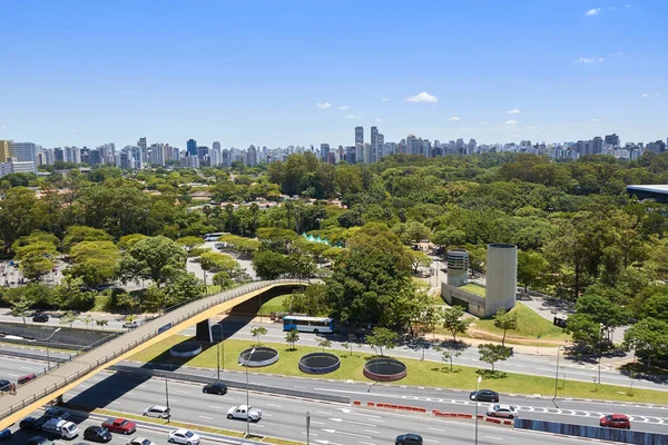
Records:
{"label": "dark blue panelled barrier along the highway at lower right", "polygon": [[666,445],[668,435],[646,433],[630,429],[601,428],[599,426],[560,424],[557,422],[531,421],[515,418],[514,428],[561,434],[566,436],[587,437],[599,441],[619,442],[638,445]]}

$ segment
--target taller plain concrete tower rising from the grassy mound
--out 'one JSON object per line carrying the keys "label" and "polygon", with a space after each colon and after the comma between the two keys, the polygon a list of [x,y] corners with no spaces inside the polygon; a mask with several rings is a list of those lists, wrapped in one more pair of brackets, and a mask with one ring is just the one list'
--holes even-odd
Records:
{"label": "taller plain concrete tower rising from the grassy mound", "polygon": [[489,317],[503,307],[515,304],[518,288],[518,246],[489,244],[487,261],[485,315]]}

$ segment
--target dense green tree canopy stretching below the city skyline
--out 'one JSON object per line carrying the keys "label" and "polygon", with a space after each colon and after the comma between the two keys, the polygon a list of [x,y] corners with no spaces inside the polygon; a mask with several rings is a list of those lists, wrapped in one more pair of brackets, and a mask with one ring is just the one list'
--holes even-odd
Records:
{"label": "dense green tree canopy stretching below the city skyline", "polygon": [[[186,246],[183,239],[227,231],[226,246],[253,258],[261,277],[312,276],[332,264],[326,286],[310,290],[310,312],[397,328],[410,328],[428,298],[411,276],[430,261],[410,246],[466,248],[471,267],[483,273],[485,245],[510,243],[520,249],[522,286],[577,301],[569,318],[576,342],[593,347],[601,326],[610,336],[636,319],[632,346],[666,356],[667,334],[655,337],[668,333],[667,206],[639,202],[626,191],[630,184],[668,184],[668,154],[630,162],[397,155],[331,166],[306,152],[227,170],[16,174],[0,180],[0,235],[6,255],[16,255],[36,284],[51,267],[40,263],[67,255],[71,276],[87,284],[146,277],[160,288],[186,280],[173,271],[185,264],[175,247]],[[193,195],[203,190],[210,202],[197,205]],[[303,233],[330,245],[307,243]],[[147,236],[159,241],[147,246]],[[151,248],[168,255],[157,271],[139,251]],[[215,270],[223,269],[229,274],[220,283],[243,276],[234,265]],[[96,278],[97,270],[104,276]],[[195,281],[181,285],[187,291],[171,301],[202,290]],[[11,303],[14,294],[3,298]],[[60,298],[68,298],[65,290]]]}

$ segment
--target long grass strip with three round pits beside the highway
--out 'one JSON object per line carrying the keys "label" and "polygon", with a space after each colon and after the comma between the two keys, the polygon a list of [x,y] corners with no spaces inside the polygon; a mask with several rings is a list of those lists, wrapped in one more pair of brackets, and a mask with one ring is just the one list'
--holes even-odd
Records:
{"label": "long grass strip with three round pits beside the highway", "polygon": [[[181,366],[199,366],[199,367],[216,367],[216,350],[213,347],[204,350],[197,357],[191,359],[177,359],[169,356],[168,348],[189,339],[187,336],[173,336],[169,337],[140,353],[137,353],[130,359],[137,362],[157,362],[157,363],[173,363]],[[238,354],[248,347],[255,346],[256,342],[249,340],[225,340],[225,369],[233,370],[245,370],[243,366],[237,363]],[[372,357],[370,354],[361,354],[353,347],[353,355],[350,352],[344,350],[330,350],[341,357],[341,367],[330,374],[322,377],[314,375],[304,374],[297,366],[298,358],[307,353],[322,350],[315,347],[299,346],[297,343],[296,350],[292,350],[285,344],[265,344],[263,345],[274,347],[278,350],[281,358],[274,365],[263,367],[259,369],[250,368],[250,373],[263,373],[263,374],[279,374],[298,377],[310,378],[333,378],[340,380],[358,380],[358,382],[371,382],[364,377],[362,373],[362,366],[364,363]],[[389,353],[389,354],[387,354]],[[392,356],[392,350],[385,355]],[[420,353],[415,353],[419,357]],[[455,366],[453,372],[450,372],[450,365],[446,363],[436,362],[421,362],[419,359],[406,359],[401,358],[409,368],[409,375],[399,380],[401,385],[414,385],[414,386],[432,386],[454,389],[471,389],[475,387],[475,380],[478,379],[478,368],[468,366],[456,366],[456,358],[454,359]],[[489,365],[481,362],[482,369],[489,369]],[[524,374],[511,374],[511,373],[497,373],[493,376],[489,375],[489,372],[483,370],[483,387],[493,389],[500,393],[511,394],[541,394],[543,396],[552,395],[554,393],[554,379],[549,377],[539,377]],[[578,397],[578,398],[600,398],[620,402],[647,402],[647,403],[659,403],[668,404],[668,392],[648,390],[648,389],[633,389],[632,396],[627,395],[628,388],[625,386],[612,386],[612,385],[599,385],[598,392],[593,390],[595,386],[588,382],[576,382],[564,380],[564,384],[560,383],[559,396],[560,397]]]}

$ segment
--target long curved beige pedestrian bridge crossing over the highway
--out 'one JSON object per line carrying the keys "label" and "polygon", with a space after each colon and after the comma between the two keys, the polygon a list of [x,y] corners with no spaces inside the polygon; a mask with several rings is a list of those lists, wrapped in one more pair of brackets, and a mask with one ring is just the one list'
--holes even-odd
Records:
{"label": "long curved beige pedestrian bridge crossing over the highway", "polygon": [[73,358],[18,388],[16,395],[0,397],[0,431],[63,395],[100,370],[239,303],[277,288],[305,285],[297,279],[256,281],[176,307],[136,329]]}

